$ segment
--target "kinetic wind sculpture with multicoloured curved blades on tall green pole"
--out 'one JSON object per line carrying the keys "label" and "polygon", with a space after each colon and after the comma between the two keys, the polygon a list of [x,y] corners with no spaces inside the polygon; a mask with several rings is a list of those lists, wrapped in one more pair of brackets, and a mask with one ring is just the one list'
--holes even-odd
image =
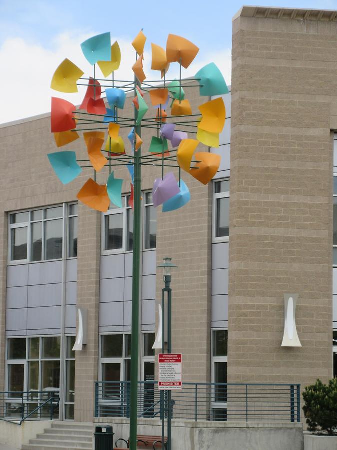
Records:
{"label": "kinetic wind sculpture with multicoloured curved blades on tall green pole", "polygon": [[[134,445],[137,417],[141,166],[161,166],[161,176],[155,179],[152,191],[156,207],[162,205],[162,212],[168,212],[184,206],[190,200],[190,192],[180,177],[181,170],[207,184],[219,168],[219,155],[205,151],[195,153],[195,150],[199,142],[209,147],[219,146],[219,133],[225,123],[225,105],[221,97],[211,101],[207,98],[199,106],[200,114],[193,114],[183,87],[198,87],[200,95],[206,97],[228,93],[225,80],[214,63],[204,66],[194,78],[185,80],[182,85],[181,67],[187,68],[199,49],[187,39],[173,34],[167,38],[166,51],[159,45],[151,44],[151,69],[160,71],[162,81],[146,81],[143,70],[145,41],[146,37],[140,31],[132,42],[136,51],[136,62],[132,66],[135,76],[132,81],[114,77],[120,65],[121,53],[117,42],[111,45],[109,32],[91,37],[81,44],[84,56],[93,65],[93,77],[83,78],[84,72],[69,59],[61,62],[53,75],[51,87],[60,92],[77,92],[77,85],[83,85],[85,80],[87,90],[79,110],[69,101],[52,97],[51,131],[57,147],[79,139],[78,132],[83,131],[88,159],[77,160],[74,151],[48,154],[51,166],[63,184],[74,180],[83,167],[93,167],[94,179],[89,178],[84,183],[77,198],[90,208],[102,212],[108,210],[110,202],[117,207],[122,206],[123,180],[115,178],[112,167],[125,165],[130,173],[129,205],[134,209],[131,448]],[[168,80],[166,75],[172,62],[179,64],[179,79]],[[96,65],[103,79],[96,76]],[[103,88],[106,99],[102,98]],[[128,92],[134,94],[134,117],[123,114]],[[149,93],[146,101],[144,92]],[[149,102],[153,112],[149,110]],[[130,128],[127,136],[130,146],[124,143],[119,134],[122,128]],[[149,148],[143,153],[142,128],[155,130]],[[189,137],[189,134],[196,138]],[[106,166],[109,176],[106,183],[100,185],[96,182],[96,172]],[[164,167],[177,167],[178,181],[173,172],[164,174]]]}

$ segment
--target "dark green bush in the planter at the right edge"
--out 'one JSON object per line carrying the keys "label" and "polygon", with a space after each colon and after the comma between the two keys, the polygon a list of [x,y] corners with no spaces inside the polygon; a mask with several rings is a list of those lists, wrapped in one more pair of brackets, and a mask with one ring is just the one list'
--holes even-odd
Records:
{"label": "dark green bush in the planter at the right edge", "polygon": [[302,393],[308,430],[337,433],[337,378],[323,384],[319,379]]}

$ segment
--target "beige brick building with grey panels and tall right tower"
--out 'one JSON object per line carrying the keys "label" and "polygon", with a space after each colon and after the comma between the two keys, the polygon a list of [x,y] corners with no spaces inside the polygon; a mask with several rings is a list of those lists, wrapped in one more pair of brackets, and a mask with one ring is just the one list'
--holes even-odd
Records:
{"label": "beige brick building with grey panels and tall right tower", "polygon": [[[243,7],[233,18],[220,147],[198,147],[222,156],[213,182],[185,173],[191,201],[156,212],[160,169],[143,169],[140,380],[157,378],[151,346],[164,256],[179,266],[172,346],[183,354],[184,381],[305,386],[333,376],[336,45],[336,11]],[[185,93],[197,111],[198,89]],[[56,389],[61,419],[91,421],[95,381],[130,376],[130,175],[115,169],[124,205],[101,214],[77,204],[91,169],[65,186],[51,170],[48,114],[0,125],[0,148],[0,390]],[[83,139],[66,148],[85,159]],[[103,169],[97,182],[106,177]],[[281,347],[285,293],[298,294],[301,347]],[[87,343],[73,352],[76,306],[87,311]],[[15,415],[15,397],[7,403]],[[226,404],[210,408],[226,419]]]}

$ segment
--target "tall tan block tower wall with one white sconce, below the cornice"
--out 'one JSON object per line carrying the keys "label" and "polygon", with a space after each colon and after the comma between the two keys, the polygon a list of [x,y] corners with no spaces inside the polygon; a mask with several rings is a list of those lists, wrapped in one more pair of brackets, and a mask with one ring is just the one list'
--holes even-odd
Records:
{"label": "tall tan block tower wall with one white sconce, below the cornice", "polygon": [[[336,23],[233,22],[229,382],[332,377],[336,43]],[[281,348],[286,292],[302,348]]]}

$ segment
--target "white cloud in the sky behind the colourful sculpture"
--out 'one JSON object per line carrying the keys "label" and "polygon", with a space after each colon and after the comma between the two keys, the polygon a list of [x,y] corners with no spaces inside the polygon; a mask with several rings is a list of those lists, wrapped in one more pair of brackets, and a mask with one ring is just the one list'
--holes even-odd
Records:
{"label": "white cloud in the sky behind the colourful sculpture", "polygon": [[[90,34],[62,33],[52,42],[52,48],[46,49],[42,45],[28,43],[22,38],[8,38],[0,48],[0,60],[3,61],[5,70],[0,71],[0,83],[2,86],[2,107],[0,109],[0,123],[18,120],[50,111],[50,98],[56,96],[80,104],[85,93],[85,87],[79,87],[79,92],[65,94],[50,89],[50,81],[56,67],[64,58],[70,59],[81,68],[85,77],[93,75],[92,66],[82,54],[80,43]],[[131,66],[135,60],[135,52],[130,40],[118,38],[121,48],[122,61],[116,71],[116,78],[133,79]],[[203,57],[201,57],[203,56]],[[231,78],[231,51],[225,49],[200,55],[187,70],[183,70],[182,76],[192,76],[203,65],[215,62],[222,71],[227,84]],[[159,79],[158,72],[150,70],[151,54],[144,54],[144,71],[148,79]],[[97,77],[102,77],[97,68]],[[169,78],[179,76],[178,65],[171,64],[168,73]],[[85,81],[84,81],[85,83]]]}

